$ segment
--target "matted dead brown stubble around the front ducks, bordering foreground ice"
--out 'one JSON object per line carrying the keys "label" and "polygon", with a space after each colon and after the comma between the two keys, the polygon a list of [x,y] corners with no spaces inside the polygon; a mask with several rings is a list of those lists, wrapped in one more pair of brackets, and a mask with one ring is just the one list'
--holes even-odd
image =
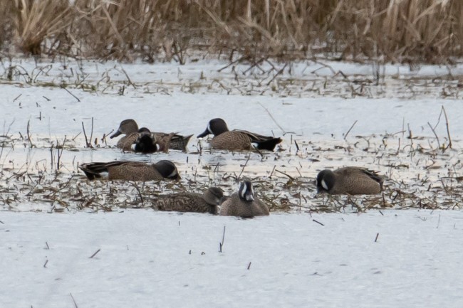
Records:
{"label": "matted dead brown stubble around the front ducks, bordering foreground ice", "polygon": [[[442,123],[440,125],[445,125]],[[307,166],[291,176],[271,172],[266,176],[246,177],[253,181],[256,194],[270,208],[271,212],[355,212],[364,213],[383,208],[407,209],[459,209],[463,206],[463,176],[459,174],[462,162],[458,151],[437,147],[435,137],[417,138],[412,144],[399,144],[400,134],[382,137],[348,137],[332,144],[312,142],[308,146],[300,142],[298,154],[279,156],[284,161],[306,161],[322,155],[323,166],[343,157],[342,164],[353,163],[350,159],[371,161],[385,176],[384,191],[373,196],[330,196],[316,195],[314,173],[316,166],[310,166],[313,176],[307,176]],[[363,143],[358,144],[358,140]],[[364,147],[365,139],[369,147]],[[378,142],[382,139],[383,142]],[[67,139],[65,140],[67,141]],[[64,141],[56,141],[65,144]],[[9,147],[7,144],[4,147]],[[31,149],[36,151],[38,149]],[[348,153],[348,154],[346,154]],[[65,152],[63,159],[69,159]],[[203,153],[202,155],[209,155]],[[213,155],[213,153],[212,153]],[[277,157],[278,154],[266,154]],[[58,154],[51,161],[56,161]],[[192,171],[182,172],[181,181],[133,183],[122,181],[88,181],[78,173],[77,165],[61,166],[26,161],[24,165],[1,169],[4,181],[0,184],[0,208],[18,210],[27,204],[27,211],[123,211],[125,208],[156,208],[157,196],[180,192],[203,192],[209,186],[217,186],[230,195],[236,191],[236,181],[242,169],[240,161],[246,154],[236,157],[236,171],[224,171],[217,166],[207,166],[201,161],[193,165]],[[241,160],[240,160],[241,159]],[[335,162],[335,164],[339,164]],[[443,167],[444,166],[444,167]],[[188,170],[191,166],[188,167]],[[289,172],[289,169],[285,170]],[[35,206],[34,206],[35,204]]]}

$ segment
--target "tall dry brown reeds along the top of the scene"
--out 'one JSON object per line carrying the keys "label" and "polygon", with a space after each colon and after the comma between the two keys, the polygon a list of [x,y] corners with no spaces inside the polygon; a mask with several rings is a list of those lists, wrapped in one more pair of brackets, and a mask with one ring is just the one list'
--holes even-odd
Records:
{"label": "tall dry brown reeds along the top of the scene", "polygon": [[463,55],[462,16],[459,0],[13,0],[0,2],[0,44],[150,62],[207,51],[452,63]]}

